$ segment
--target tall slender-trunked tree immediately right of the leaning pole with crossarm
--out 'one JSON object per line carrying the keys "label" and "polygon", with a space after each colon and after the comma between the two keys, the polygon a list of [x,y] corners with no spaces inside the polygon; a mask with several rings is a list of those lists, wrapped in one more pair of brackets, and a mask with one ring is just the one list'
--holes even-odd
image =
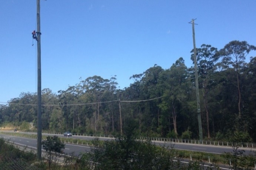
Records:
{"label": "tall slender-trunked tree immediately right of the leaning pole with crossarm", "polygon": [[[193,50],[191,51],[193,52]],[[215,81],[213,80],[214,73],[216,71],[216,62],[219,59],[217,48],[211,45],[202,44],[201,48],[196,49],[197,52],[197,68],[199,75],[199,87],[203,90],[203,102],[206,112],[206,122],[207,122],[207,137],[210,138],[209,129],[209,108],[208,108],[208,94],[212,88],[215,88]],[[191,55],[191,60],[193,64],[194,53]]]}

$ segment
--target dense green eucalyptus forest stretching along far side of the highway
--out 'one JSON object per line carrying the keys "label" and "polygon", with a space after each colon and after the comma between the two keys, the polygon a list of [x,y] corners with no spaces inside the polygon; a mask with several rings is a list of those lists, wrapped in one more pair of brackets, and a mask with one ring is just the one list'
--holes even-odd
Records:
{"label": "dense green eucalyptus forest stretching along far side of the highway", "polygon": [[[218,50],[197,48],[200,111],[204,138],[225,139],[242,130],[256,141],[256,47],[231,41]],[[191,59],[194,62],[193,51]],[[119,89],[117,79],[92,76],[53,93],[42,90],[42,128],[73,133],[122,134],[133,119],[142,136],[199,138],[195,69],[179,58],[168,69],[158,65],[132,75],[134,82]],[[37,126],[37,94],[22,92],[0,105],[0,124],[33,122]]]}

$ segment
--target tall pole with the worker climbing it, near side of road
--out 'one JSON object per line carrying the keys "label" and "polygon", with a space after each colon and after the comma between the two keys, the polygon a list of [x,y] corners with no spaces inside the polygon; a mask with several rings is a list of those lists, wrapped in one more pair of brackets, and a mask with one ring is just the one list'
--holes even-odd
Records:
{"label": "tall pole with the worker climbing it, near side of road", "polygon": [[40,0],[37,0],[37,159],[41,160],[42,120],[41,120],[41,31]]}

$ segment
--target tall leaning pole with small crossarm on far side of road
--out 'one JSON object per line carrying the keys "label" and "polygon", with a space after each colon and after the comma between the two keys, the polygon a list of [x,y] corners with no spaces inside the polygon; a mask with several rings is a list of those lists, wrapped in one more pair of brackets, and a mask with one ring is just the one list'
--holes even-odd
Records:
{"label": "tall leaning pole with small crossarm on far side of road", "polygon": [[202,122],[201,122],[201,110],[200,110],[200,99],[199,99],[199,88],[198,88],[198,75],[197,75],[197,60],[196,60],[196,40],[195,40],[195,21],[192,19],[189,23],[192,24],[193,32],[193,46],[194,46],[194,63],[195,63],[195,76],[196,76],[196,101],[197,101],[197,118],[199,127],[199,139],[203,140]]}

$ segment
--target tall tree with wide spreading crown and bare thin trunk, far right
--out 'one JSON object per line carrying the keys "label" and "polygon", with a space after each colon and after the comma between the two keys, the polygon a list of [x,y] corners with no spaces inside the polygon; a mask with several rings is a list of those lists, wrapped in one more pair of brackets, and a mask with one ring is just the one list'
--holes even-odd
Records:
{"label": "tall tree with wide spreading crown and bare thin trunk, far right", "polygon": [[238,116],[241,118],[241,89],[240,89],[240,73],[245,67],[246,55],[256,47],[249,45],[246,41],[230,41],[220,50],[222,62],[226,68],[233,68],[236,72],[236,85],[238,95]]}

